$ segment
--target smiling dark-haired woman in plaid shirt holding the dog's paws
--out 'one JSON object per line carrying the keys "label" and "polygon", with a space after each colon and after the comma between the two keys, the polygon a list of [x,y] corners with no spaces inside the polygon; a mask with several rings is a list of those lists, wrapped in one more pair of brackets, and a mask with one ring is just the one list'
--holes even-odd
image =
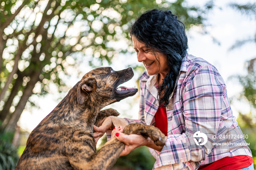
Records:
{"label": "smiling dark-haired woman in plaid shirt holding the dog's paws", "polygon": [[219,138],[241,134],[225,82],[210,63],[187,54],[184,24],[177,16],[171,11],[147,11],[131,26],[130,35],[138,61],[146,69],[139,78],[139,120],[107,117],[94,127],[95,139],[114,126],[154,125],[166,135],[164,147],[140,135],[120,133],[121,127],[113,130],[112,136],[126,144],[120,156],[148,146],[157,159],[154,169],[253,169],[244,139]]}

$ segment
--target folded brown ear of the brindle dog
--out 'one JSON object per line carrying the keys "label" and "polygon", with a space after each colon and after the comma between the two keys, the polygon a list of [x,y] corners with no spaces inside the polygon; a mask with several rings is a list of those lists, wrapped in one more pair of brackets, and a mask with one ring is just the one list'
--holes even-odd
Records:
{"label": "folded brown ear of the brindle dog", "polygon": [[84,101],[87,100],[89,96],[89,92],[91,92],[96,87],[96,79],[93,78],[86,78],[79,83],[77,89],[77,101],[79,104],[83,104]]}

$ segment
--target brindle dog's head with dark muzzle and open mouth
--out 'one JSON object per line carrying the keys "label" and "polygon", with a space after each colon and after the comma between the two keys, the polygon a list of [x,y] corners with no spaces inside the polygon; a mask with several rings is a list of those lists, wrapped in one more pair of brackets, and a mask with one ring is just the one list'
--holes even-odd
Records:
{"label": "brindle dog's head with dark muzzle and open mouth", "polygon": [[132,68],[114,71],[111,67],[100,67],[85,74],[78,83],[78,103],[87,100],[101,105],[108,105],[133,96],[136,88],[118,87],[133,77]]}

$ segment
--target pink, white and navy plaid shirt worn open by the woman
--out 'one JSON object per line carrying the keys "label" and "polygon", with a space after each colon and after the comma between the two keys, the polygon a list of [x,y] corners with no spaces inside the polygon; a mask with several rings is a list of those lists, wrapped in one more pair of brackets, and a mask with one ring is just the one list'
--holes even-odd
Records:
{"label": "pink, white and navy plaid shirt worn open by the woman", "polygon": [[[155,124],[158,109],[157,76],[146,72],[140,80],[139,120],[128,123]],[[201,165],[236,155],[252,156],[248,146],[213,146],[214,142],[245,142],[244,139],[216,139],[213,135],[239,134],[240,128],[230,108],[227,90],[218,70],[202,58],[183,58],[176,88],[166,107],[168,138],[161,152],[151,148],[157,159],[154,168],[198,169]],[[197,146],[193,135],[203,131],[208,137],[205,145]]]}

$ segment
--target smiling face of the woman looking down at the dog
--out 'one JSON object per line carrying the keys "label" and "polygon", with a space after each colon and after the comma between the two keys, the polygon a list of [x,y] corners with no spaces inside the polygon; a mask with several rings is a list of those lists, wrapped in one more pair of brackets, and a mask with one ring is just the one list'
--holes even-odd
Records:
{"label": "smiling face of the woman looking down at the dog", "polygon": [[169,72],[166,56],[163,53],[153,52],[146,49],[144,43],[139,42],[132,36],[133,47],[137,53],[138,62],[142,62],[148,75],[160,74],[163,79]]}

